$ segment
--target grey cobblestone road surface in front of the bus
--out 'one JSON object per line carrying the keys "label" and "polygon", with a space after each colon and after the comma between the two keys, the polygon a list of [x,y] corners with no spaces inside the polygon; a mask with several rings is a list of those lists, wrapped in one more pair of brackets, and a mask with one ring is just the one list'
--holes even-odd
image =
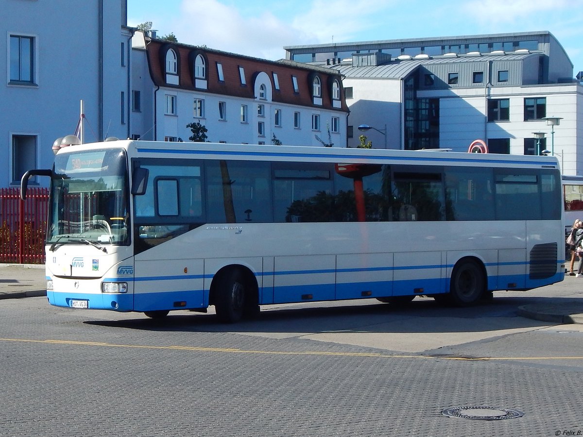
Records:
{"label": "grey cobblestone road surface in front of the bus", "polygon": [[[415,323],[428,311],[371,308],[357,316]],[[486,305],[480,312],[489,311]],[[293,329],[263,335],[273,334],[276,319]],[[343,320],[353,323],[345,311],[299,309],[238,326],[185,312],[161,324],[135,313],[54,308],[41,297],[1,301],[0,435],[553,436],[583,429],[583,368],[530,362],[519,346],[527,334],[542,348],[556,346],[564,337],[545,334],[550,325],[503,336],[518,345],[520,361],[496,358],[503,350],[492,340],[463,345],[481,354],[459,357],[314,341],[297,332],[298,325]],[[581,344],[583,333],[567,338]],[[457,406],[524,416],[442,415]]]}

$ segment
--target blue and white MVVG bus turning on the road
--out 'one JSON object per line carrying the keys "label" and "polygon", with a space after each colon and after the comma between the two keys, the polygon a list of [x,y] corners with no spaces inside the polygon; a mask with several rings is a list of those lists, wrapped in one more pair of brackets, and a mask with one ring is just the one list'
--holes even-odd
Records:
{"label": "blue and white MVVG bus turning on the road", "polygon": [[556,158],[115,141],[51,170],[47,297],[206,311],[417,295],[466,306],[563,280]]}

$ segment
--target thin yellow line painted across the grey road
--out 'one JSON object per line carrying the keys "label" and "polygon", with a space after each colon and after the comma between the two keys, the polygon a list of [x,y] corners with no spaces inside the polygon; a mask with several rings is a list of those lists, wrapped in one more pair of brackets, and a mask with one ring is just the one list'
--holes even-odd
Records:
{"label": "thin yellow line painted across the grey road", "polygon": [[396,354],[375,354],[358,352],[325,352],[325,351],[254,351],[222,347],[196,347],[196,346],[147,346],[145,344],[115,344],[100,343],[96,341],[73,341],[73,340],[27,340],[27,339],[0,339],[0,341],[15,341],[18,343],[43,343],[43,344],[68,344],[71,346],[108,346],[125,347],[154,350],[182,350],[197,352],[223,352],[237,354],[264,354],[264,355],[325,355],[334,357],[373,357],[373,358],[433,358],[435,360],[455,360],[455,361],[519,361],[519,360],[583,360],[583,357],[444,357],[440,355],[396,355]]}

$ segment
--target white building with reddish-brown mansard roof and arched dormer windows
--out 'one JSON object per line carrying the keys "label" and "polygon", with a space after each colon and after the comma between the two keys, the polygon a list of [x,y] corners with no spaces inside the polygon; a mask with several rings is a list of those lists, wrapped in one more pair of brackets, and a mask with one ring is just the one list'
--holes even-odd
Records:
{"label": "white building with reddish-brown mansard roof and arched dormer windows", "polygon": [[[348,110],[337,71],[267,61],[136,32],[131,136],[189,141],[346,147]],[[321,140],[318,140],[320,138]]]}

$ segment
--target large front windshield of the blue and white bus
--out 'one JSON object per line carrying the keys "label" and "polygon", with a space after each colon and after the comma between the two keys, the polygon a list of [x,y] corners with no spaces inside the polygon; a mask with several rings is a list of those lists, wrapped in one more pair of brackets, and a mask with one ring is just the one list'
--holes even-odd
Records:
{"label": "large front windshield of the blue and white bus", "polygon": [[123,149],[58,154],[51,199],[48,244],[129,244],[128,171]]}

